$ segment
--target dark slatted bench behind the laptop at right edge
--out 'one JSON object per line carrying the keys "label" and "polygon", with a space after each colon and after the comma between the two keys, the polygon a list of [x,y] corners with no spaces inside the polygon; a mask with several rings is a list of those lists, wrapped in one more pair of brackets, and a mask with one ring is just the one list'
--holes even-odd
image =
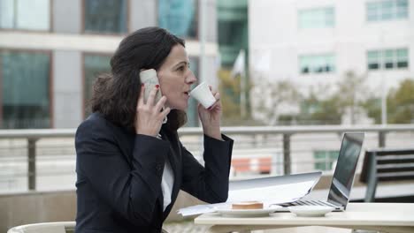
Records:
{"label": "dark slatted bench behind the laptop at right edge", "polygon": [[365,202],[375,201],[379,181],[414,180],[414,148],[366,150],[360,181],[366,184]]}

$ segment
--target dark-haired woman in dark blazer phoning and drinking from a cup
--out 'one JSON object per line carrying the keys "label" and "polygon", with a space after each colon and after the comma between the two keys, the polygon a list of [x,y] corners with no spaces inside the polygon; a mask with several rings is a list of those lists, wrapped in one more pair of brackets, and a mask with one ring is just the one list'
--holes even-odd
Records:
{"label": "dark-haired woman in dark blazer phoning and drinking from a cup", "polygon": [[[144,102],[146,69],[157,71],[159,86]],[[93,113],[76,132],[77,233],[160,232],[180,189],[226,201],[233,140],[220,132],[219,93],[210,109],[198,106],[205,168],[178,138],[195,83],[184,41],[165,29],[142,28],[120,42],[111,75],[96,80]]]}

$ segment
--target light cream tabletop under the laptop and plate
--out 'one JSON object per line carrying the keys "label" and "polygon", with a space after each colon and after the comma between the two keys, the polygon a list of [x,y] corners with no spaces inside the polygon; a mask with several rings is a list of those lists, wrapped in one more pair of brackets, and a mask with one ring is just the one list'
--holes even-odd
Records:
{"label": "light cream tabletop under the laptop and plate", "polygon": [[414,232],[414,203],[349,203],[344,212],[331,212],[325,217],[298,217],[290,212],[265,217],[223,217],[219,213],[202,214],[196,224],[226,226],[366,226],[404,227]]}

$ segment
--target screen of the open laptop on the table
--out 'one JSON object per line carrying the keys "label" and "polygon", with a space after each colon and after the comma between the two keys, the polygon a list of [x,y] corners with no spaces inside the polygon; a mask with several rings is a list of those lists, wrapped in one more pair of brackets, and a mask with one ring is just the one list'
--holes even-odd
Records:
{"label": "screen of the open laptop on the table", "polygon": [[334,205],[344,207],[344,209],[349,202],[349,194],[354,183],[363,141],[363,132],[346,132],[342,138],[338,162],[327,200]]}

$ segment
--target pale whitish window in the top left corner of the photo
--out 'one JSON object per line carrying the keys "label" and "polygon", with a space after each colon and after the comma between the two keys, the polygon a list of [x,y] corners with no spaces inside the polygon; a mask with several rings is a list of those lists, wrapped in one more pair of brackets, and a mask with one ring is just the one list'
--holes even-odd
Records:
{"label": "pale whitish window in the top left corner of the photo", "polygon": [[50,30],[50,0],[0,0],[0,28]]}

